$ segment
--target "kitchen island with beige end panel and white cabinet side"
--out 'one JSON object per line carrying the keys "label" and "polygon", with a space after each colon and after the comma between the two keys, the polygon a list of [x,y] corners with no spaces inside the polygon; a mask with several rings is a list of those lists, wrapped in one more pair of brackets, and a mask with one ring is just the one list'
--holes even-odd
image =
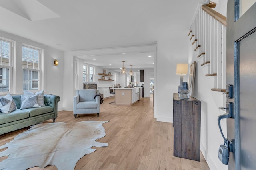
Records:
{"label": "kitchen island with beige end panel and white cabinet side", "polygon": [[139,100],[140,87],[114,88],[115,102],[119,106],[132,106]]}

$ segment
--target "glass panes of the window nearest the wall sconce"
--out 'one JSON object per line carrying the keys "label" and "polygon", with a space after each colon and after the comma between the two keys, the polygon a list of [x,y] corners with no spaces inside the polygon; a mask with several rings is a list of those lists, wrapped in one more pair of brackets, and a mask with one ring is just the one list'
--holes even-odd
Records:
{"label": "glass panes of the window nearest the wall sconce", "polygon": [[40,90],[41,54],[41,49],[22,47],[23,90]]}

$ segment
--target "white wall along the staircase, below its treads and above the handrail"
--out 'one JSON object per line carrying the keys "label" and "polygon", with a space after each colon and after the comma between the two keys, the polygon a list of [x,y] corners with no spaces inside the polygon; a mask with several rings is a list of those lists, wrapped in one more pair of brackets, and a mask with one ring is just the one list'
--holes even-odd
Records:
{"label": "white wall along the staircase, below its treads and above the handrail", "polygon": [[[214,10],[226,16],[227,0],[217,0]],[[189,39],[187,39],[189,43]],[[201,66],[203,61],[198,59],[198,53],[194,51],[192,45],[188,45],[188,63],[189,65],[196,61],[196,77],[194,84],[194,97],[201,100],[201,151],[211,170],[227,170],[228,166],[222,164],[218,159],[218,149],[224,140],[218,127],[218,116],[224,114],[224,111],[218,109],[223,107],[226,102],[225,95],[222,92],[213,92],[213,79],[207,78],[205,74],[206,67]],[[226,136],[226,121],[221,121],[224,135]]]}

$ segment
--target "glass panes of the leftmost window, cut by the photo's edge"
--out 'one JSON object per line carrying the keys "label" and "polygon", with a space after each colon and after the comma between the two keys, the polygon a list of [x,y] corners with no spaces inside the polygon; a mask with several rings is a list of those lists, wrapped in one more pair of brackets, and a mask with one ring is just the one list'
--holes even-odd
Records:
{"label": "glass panes of the leftmost window, cut by the photo's edge", "polygon": [[10,92],[12,43],[13,41],[0,38],[0,92]]}

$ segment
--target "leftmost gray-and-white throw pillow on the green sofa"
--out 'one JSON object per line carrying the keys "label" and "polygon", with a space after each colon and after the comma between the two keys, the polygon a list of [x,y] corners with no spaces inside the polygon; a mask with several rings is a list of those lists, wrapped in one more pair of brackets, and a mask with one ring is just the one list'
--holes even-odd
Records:
{"label": "leftmost gray-and-white throw pillow on the green sofa", "polygon": [[17,106],[10,94],[0,98],[0,109],[2,113],[10,113],[17,109]]}

